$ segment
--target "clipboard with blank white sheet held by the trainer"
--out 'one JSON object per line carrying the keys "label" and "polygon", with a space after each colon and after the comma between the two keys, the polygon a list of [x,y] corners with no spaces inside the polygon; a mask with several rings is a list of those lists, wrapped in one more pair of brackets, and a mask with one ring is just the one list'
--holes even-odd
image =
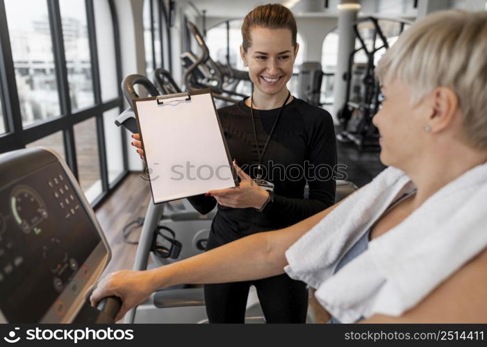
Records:
{"label": "clipboard with blank white sheet held by the trainer", "polygon": [[154,203],[238,186],[210,89],[136,99],[134,111]]}

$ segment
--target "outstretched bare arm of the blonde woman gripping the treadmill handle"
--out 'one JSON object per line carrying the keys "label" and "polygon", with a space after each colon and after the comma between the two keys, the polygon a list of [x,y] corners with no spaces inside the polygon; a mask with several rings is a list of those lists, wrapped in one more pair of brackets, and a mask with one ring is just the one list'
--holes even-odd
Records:
{"label": "outstretched bare arm of the blonde woman gripping the treadmill handle", "polygon": [[284,252],[321,221],[338,204],[286,229],[259,232],[206,253],[149,271],[118,271],[99,282],[90,298],[96,305],[102,298],[118,296],[122,307],[116,320],[143,303],[156,289],[176,284],[223,283],[283,273],[288,264]]}

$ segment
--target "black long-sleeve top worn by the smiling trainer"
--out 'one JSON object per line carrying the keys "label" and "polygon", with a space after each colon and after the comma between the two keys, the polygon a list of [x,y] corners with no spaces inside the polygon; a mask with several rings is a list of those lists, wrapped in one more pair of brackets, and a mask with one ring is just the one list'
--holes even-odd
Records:
{"label": "black long-sleeve top worn by the smiling trainer", "polygon": [[[258,146],[262,152],[278,109],[254,110]],[[240,101],[218,110],[231,158],[252,178],[258,155],[250,108]],[[211,237],[226,244],[255,232],[285,228],[328,208],[335,201],[336,139],[331,115],[321,108],[293,99],[284,108],[263,156],[263,179],[274,183],[274,203],[265,212],[254,208],[218,205]],[[314,169],[313,169],[314,168]],[[309,196],[304,198],[308,180]],[[213,210],[211,196],[192,196],[201,214]]]}

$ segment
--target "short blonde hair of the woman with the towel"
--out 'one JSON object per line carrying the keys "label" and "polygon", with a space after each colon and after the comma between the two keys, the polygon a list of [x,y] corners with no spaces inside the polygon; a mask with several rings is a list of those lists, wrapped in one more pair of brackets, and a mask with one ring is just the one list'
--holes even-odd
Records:
{"label": "short blonde hair of the woman with the towel", "polygon": [[447,10],[420,19],[386,51],[375,73],[383,83],[407,83],[413,103],[436,87],[451,88],[470,144],[487,150],[486,11]]}

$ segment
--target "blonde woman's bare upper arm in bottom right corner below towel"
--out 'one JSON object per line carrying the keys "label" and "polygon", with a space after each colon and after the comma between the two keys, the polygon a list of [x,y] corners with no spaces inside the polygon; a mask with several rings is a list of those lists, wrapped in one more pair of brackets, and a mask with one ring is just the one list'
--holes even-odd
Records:
{"label": "blonde woman's bare upper arm in bottom right corner below towel", "polygon": [[360,323],[487,323],[487,250],[402,316],[374,314]]}

